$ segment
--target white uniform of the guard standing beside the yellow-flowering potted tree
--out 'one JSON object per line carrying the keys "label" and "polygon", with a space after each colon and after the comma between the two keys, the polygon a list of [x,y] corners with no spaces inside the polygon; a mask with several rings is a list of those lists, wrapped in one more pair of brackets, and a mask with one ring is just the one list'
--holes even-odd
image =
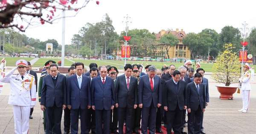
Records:
{"label": "white uniform of the guard standing beside the yellow-flowering potted tree", "polygon": [[242,92],[242,99],[243,99],[243,108],[244,112],[248,111],[249,108],[249,102],[250,102],[250,98],[249,98],[249,94],[250,94],[250,73],[249,71],[244,72],[244,74],[241,77],[241,92]]}

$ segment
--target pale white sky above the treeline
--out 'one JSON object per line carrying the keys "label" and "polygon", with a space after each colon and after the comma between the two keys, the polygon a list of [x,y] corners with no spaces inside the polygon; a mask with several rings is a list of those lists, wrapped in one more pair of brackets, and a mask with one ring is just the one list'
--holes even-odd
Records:
{"label": "pale white sky above the treeline", "polygon": [[[208,28],[220,33],[224,26],[242,28],[244,21],[252,28],[256,26],[255,4],[254,0],[99,0],[97,5],[92,0],[76,17],[66,18],[65,44],[70,44],[73,34],[78,34],[86,23],[100,22],[106,13],[117,34],[125,29],[122,21],[126,14],[132,21],[129,29],[150,32],[183,29],[188,34]],[[24,34],[41,41],[55,39],[62,44],[62,20],[26,29]]]}

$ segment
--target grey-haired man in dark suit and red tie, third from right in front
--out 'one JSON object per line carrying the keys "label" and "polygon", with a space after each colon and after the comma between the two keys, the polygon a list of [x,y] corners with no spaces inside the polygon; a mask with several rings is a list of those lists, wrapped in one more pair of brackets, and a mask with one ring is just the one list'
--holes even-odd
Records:
{"label": "grey-haired man in dark suit and red tie, third from right in front", "polygon": [[157,68],[148,67],[148,74],[140,78],[139,107],[142,108],[141,131],[143,134],[154,134],[156,129],[157,108],[162,104],[162,87],[160,77],[155,75]]}

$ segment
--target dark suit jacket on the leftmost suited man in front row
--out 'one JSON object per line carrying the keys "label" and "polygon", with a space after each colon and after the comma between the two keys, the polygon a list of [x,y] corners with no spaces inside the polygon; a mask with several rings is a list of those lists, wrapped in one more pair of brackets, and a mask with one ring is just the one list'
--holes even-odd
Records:
{"label": "dark suit jacket on the leftmost suited man in front row", "polygon": [[58,74],[56,86],[53,84],[51,75],[44,77],[41,91],[41,105],[53,107],[54,102],[57,107],[67,105],[67,80],[63,74]]}

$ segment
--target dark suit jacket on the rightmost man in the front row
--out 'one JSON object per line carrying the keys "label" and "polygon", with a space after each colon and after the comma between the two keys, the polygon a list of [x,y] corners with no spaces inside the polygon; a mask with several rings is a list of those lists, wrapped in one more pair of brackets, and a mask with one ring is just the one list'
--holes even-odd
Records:
{"label": "dark suit jacket on the rightmost man in the front row", "polygon": [[204,84],[203,83],[199,84],[199,94],[194,82],[189,83],[186,88],[188,92],[187,108],[191,108],[191,110],[196,111],[198,109],[198,105],[200,104],[201,110],[203,110],[206,104],[206,94],[205,94]]}

